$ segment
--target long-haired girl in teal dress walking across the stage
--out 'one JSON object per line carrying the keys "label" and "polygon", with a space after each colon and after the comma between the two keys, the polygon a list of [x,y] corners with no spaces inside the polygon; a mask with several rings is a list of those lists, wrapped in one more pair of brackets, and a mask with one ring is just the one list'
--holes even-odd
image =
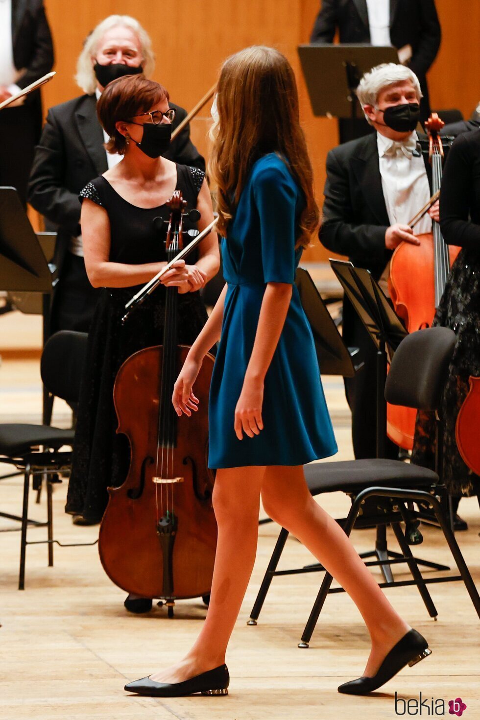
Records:
{"label": "long-haired girl in teal dress walking across the stage", "polygon": [[[226,694],[225,653],[255,561],[260,498],[343,585],[366,622],[364,675],[340,692],[378,688],[427,648],[398,616],[342,528],[312,498],[303,465],[335,454],[312,333],[294,284],[317,228],[312,167],[284,55],[254,47],[219,78],[210,173],[227,284],[173,389],[178,415],[197,409],[194,382],[219,341],[209,397],[209,467],[218,523],[204,626],[177,665],[125,686],[141,695]],[[426,653],[425,653],[426,654]]]}

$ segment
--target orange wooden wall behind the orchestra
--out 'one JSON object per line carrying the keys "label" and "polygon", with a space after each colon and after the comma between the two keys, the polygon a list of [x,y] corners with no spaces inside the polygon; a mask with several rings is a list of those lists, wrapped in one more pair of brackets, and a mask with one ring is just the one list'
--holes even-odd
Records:
{"label": "orange wooden wall behind the orchestra", "polygon": [[[318,202],[322,203],[325,157],[338,143],[336,120],[315,118],[309,106],[296,46],[307,42],[319,0],[45,0],[55,42],[58,75],[45,88],[45,109],[79,94],[73,80],[76,58],[89,31],[109,14],[134,14],[150,33],[157,56],[154,79],[162,82],[173,102],[189,109],[214,83],[222,60],[255,43],[273,45],[294,66],[299,82],[302,124],[315,171]],[[433,107],[458,107],[468,117],[480,99],[478,35],[480,1],[437,0],[443,43],[430,73]],[[459,11],[461,6],[461,12]],[[327,71],[327,68],[326,70]],[[207,153],[209,106],[192,122],[194,143]],[[325,260],[319,243],[307,260]]]}

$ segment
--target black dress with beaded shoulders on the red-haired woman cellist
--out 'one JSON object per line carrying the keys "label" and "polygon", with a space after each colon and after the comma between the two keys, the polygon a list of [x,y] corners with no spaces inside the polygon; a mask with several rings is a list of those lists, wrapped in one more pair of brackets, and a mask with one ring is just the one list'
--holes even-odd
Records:
{"label": "black dress with beaded shoulders on the red-haired woman cellist", "polygon": [[[176,189],[187,201],[187,210],[196,207],[204,179],[199,168],[177,165]],[[100,176],[81,192],[107,210],[110,221],[110,261],[126,264],[166,260],[165,235],[153,227],[155,217],[168,220],[166,204],[144,209],[124,200]],[[166,227],[166,226],[165,226]],[[186,230],[191,227],[187,223]],[[193,251],[187,262],[197,259]],[[161,345],[166,292],[158,287],[122,325],[125,304],[140,289],[103,288],[89,332],[86,366],[73,446],[73,467],[65,510],[87,521],[100,521],[107,507],[107,487],[122,485],[127,477],[130,447],[127,437],[117,434],[113,387],[122,363],[142,348]],[[207,320],[199,292],[178,295],[178,342],[191,345]]]}

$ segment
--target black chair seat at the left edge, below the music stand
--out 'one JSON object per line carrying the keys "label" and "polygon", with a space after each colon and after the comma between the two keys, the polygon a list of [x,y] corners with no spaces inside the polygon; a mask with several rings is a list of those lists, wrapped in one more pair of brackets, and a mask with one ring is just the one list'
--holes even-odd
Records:
{"label": "black chair seat at the left edge, below the music stand", "polygon": [[18,456],[37,445],[57,450],[72,445],[75,431],[52,428],[49,425],[26,423],[0,423],[0,454]]}

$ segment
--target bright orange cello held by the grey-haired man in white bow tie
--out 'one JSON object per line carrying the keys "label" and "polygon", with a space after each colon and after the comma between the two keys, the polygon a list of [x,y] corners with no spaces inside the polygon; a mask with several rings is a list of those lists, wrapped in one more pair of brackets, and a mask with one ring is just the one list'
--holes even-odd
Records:
{"label": "bright orange cello held by the grey-haired man in white bow tie", "polygon": [[[434,194],[440,192],[442,181],[444,151],[439,132],[443,125],[445,123],[436,112],[425,123]],[[409,333],[432,325],[450,266],[461,250],[456,246],[447,246],[438,222],[433,221],[432,225],[432,233],[417,235],[420,245],[402,242],[391,256],[389,293],[394,310]],[[387,435],[406,450],[413,447],[416,413],[413,408],[387,405]]]}

